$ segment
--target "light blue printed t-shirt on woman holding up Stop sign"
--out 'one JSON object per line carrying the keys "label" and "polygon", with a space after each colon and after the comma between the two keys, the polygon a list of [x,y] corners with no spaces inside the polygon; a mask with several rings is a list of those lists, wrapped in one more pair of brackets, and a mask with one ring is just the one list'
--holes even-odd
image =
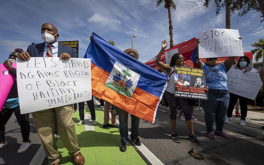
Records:
{"label": "light blue printed t-shirt on woman holding up Stop sign", "polygon": [[[210,71],[210,69],[214,68]],[[205,70],[206,85],[209,89],[221,89],[221,90],[228,90],[227,87],[227,76],[226,76],[226,68],[224,62],[214,67],[208,66],[205,63],[202,65],[202,69]]]}

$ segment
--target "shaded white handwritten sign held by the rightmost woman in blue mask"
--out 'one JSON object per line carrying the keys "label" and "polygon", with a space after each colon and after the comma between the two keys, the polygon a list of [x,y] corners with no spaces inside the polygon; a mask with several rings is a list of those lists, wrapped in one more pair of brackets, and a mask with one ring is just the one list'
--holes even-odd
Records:
{"label": "shaded white handwritten sign held by the rightmost woman in blue mask", "polygon": [[230,69],[226,75],[228,92],[255,100],[262,86],[259,73]]}

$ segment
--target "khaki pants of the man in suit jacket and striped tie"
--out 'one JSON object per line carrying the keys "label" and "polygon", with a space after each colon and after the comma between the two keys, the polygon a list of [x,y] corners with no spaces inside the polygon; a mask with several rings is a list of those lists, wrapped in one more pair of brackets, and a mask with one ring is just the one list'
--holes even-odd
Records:
{"label": "khaki pants of the man in suit jacket and striped tie", "polygon": [[72,120],[73,104],[33,112],[32,116],[49,164],[59,162],[59,158],[62,156],[58,153],[54,136],[55,116],[59,136],[69,151],[68,154],[73,156],[79,153],[80,148],[78,147],[78,139]]}

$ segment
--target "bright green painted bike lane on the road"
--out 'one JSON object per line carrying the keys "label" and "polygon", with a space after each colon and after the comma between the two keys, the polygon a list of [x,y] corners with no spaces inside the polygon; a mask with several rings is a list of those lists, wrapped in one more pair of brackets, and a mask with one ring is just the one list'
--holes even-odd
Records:
{"label": "bright green painted bike lane on the road", "polygon": [[[90,114],[89,109],[85,109],[85,114]],[[81,153],[84,155],[85,164],[138,164],[146,163],[136,152],[136,150],[128,143],[126,152],[121,152],[119,146],[121,137],[117,128],[103,128],[104,112],[101,108],[95,108],[97,124],[94,125],[95,130],[85,131],[84,123],[77,125],[79,113],[73,113],[73,121],[75,123],[76,134],[79,140]],[[111,123],[111,121],[110,121]],[[57,142],[58,151],[62,154],[60,164],[75,164],[72,156],[68,154],[68,150],[62,144],[60,138]]]}

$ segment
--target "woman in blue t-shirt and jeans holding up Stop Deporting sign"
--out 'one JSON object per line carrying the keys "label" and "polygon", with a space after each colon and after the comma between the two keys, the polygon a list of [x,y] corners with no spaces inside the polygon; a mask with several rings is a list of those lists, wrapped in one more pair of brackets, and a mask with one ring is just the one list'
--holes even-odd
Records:
{"label": "woman in blue t-shirt and jeans holding up Stop Deporting sign", "polygon": [[[198,44],[197,40],[197,58]],[[227,113],[227,107],[229,104],[229,94],[227,88],[227,76],[226,73],[232,67],[235,57],[229,57],[225,62],[217,64],[217,58],[207,58],[203,63],[199,59],[199,66],[205,70],[206,85],[209,87],[208,100],[200,100],[202,108],[205,111],[205,124],[206,135],[209,139],[215,139],[214,133],[229,139],[229,135],[223,132],[225,123],[225,114]],[[213,133],[213,123],[216,122],[216,130]]]}

